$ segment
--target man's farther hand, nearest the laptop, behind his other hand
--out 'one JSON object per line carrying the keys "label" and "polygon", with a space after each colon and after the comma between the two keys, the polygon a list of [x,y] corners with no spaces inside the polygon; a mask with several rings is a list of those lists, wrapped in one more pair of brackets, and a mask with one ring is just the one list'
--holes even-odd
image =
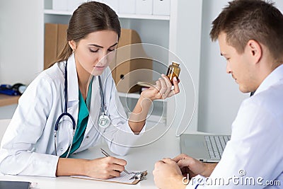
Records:
{"label": "man's farther hand, nearest the laptop, behind his other hand", "polygon": [[214,170],[215,166],[217,165],[216,163],[203,163],[202,161],[193,159],[192,157],[187,156],[186,154],[180,154],[179,156],[176,156],[173,161],[178,164],[180,170],[183,173],[183,176],[187,176],[188,173],[190,178],[197,175],[209,177],[212,171]]}

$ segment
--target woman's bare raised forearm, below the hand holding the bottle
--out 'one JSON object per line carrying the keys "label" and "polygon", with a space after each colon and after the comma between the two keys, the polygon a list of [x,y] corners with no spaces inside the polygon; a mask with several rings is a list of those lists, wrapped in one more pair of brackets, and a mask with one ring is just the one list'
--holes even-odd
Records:
{"label": "woman's bare raised forearm, below the hand holding the bottle", "polygon": [[139,98],[137,105],[134,107],[132,114],[129,116],[129,127],[132,132],[141,132],[146,122],[146,116],[149,113],[152,101],[149,98]]}

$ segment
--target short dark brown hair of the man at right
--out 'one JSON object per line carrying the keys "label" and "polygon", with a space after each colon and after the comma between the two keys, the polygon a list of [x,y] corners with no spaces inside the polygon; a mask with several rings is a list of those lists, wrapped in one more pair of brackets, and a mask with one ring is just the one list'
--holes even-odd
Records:
{"label": "short dark brown hair of the man at right", "polygon": [[275,61],[282,61],[283,16],[273,3],[262,0],[230,1],[212,22],[210,38],[226,33],[227,44],[242,54],[248,40],[265,45]]}

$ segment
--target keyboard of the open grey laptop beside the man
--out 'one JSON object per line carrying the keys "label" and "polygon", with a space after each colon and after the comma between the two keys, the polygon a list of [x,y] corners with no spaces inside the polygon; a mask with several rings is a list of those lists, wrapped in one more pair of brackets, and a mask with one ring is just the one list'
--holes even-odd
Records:
{"label": "keyboard of the open grey laptop beside the man", "polygon": [[221,159],[226,143],[230,140],[227,135],[207,135],[204,136],[207,142],[207,149],[211,159]]}

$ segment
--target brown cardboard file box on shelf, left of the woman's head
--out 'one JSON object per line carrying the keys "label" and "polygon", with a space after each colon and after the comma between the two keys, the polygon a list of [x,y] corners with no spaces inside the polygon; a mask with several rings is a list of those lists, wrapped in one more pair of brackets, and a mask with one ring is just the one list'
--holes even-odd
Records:
{"label": "brown cardboard file box on shelf, left of the woman's head", "polygon": [[56,61],[67,42],[67,24],[45,23],[44,69]]}

